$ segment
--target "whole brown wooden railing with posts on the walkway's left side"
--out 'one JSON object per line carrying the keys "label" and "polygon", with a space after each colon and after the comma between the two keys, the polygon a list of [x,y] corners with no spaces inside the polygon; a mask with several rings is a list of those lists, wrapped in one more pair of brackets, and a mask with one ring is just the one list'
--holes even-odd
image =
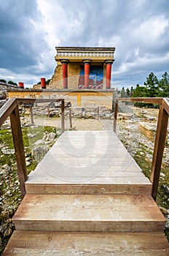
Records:
{"label": "whole brown wooden railing with posts on the walkway's left side", "polygon": [[25,195],[25,181],[28,178],[25,151],[23,146],[23,134],[20,124],[20,114],[18,105],[20,104],[34,104],[42,102],[61,102],[61,116],[62,116],[62,132],[64,132],[64,99],[20,99],[11,98],[0,108],[0,127],[4,121],[9,117],[12,128],[12,138],[15,148],[15,155],[17,161],[17,173],[20,181],[20,191],[22,196]]}

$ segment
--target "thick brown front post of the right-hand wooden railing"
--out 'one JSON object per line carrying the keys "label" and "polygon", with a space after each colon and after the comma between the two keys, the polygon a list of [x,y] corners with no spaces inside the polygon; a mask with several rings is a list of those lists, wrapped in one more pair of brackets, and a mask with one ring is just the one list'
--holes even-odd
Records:
{"label": "thick brown front post of the right-hand wooden railing", "polygon": [[154,143],[154,154],[152,159],[152,172],[150,180],[152,181],[152,197],[156,200],[157,189],[160,179],[160,171],[162,165],[162,155],[165,148],[165,140],[168,128],[168,113],[160,105],[159,116],[157,121],[157,132]]}

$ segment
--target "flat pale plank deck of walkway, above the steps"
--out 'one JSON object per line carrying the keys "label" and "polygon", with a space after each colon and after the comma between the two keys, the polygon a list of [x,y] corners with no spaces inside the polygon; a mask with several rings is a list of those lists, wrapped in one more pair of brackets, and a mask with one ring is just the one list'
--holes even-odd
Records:
{"label": "flat pale plank deck of walkway, above the steps", "polygon": [[[93,137],[95,143],[90,143]],[[108,131],[64,132],[29,175],[26,184],[35,183],[133,184],[146,185],[146,191],[151,185],[114,132]]]}

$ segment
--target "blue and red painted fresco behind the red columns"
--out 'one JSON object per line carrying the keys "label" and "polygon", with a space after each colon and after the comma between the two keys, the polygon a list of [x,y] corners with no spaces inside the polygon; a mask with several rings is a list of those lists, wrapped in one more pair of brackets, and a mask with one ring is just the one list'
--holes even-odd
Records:
{"label": "blue and red painted fresco behind the red columns", "polygon": [[[80,66],[79,89],[84,89],[84,65]],[[89,89],[103,89],[103,66],[90,65]]]}

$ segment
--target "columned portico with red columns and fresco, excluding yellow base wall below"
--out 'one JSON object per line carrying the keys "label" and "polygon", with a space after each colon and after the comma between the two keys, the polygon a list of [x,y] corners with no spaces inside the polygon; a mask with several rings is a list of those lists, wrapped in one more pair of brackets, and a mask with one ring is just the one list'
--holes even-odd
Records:
{"label": "columned portico with red columns and fresco, excluding yellow base wall below", "polygon": [[47,89],[111,89],[115,48],[56,47],[58,65]]}

